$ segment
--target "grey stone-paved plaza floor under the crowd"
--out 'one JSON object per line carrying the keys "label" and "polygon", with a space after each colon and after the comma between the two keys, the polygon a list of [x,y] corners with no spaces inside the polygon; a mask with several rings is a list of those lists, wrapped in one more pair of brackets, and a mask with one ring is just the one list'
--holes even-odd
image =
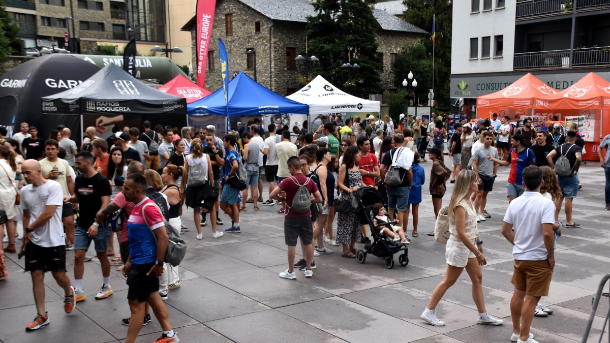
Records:
{"label": "grey stone-paved plaza floor under the crowd", "polygon": [[[422,165],[428,178],[431,162]],[[509,342],[512,247],[500,233],[508,206],[507,178],[508,168],[500,167],[487,202],[492,218],[479,223],[487,257],[483,291],[487,311],[504,319],[499,327],[476,325],[477,311],[466,273],[437,307],[447,326],[432,327],[420,319],[446,268],[444,245],[426,236],[434,225],[426,182],[420,236],[411,237],[409,265],[401,267],[397,262],[393,269],[386,269],[382,259],[371,255],[365,264],[358,264],[355,259],[342,258],[340,247],[331,247],[334,253],[315,259],[313,278],[306,279],[297,270],[296,280],[284,280],[278,277],[287,268],[284,218],[276,214],[279,205],[259,204],[260,211],[254,212],[248,204],[241,215],[242,233],[220,239],[212,239],[208,224],[203,228],[204,239],[196,240],[192,211],[185,211],[190,231],[184,234],[189,245],[180,265],[182,287],[170,291],[166,301],[173,329],[182,342]],[[554,312],[536,317],[531,330],[540,342],[581,341],[592,295],[602,276],[610,273],[610,211],[604,210],[603,169],[597,162],[589,162],[581,167],[581,179],[583,189],[574,201],[574,220],[582,227],[563,229],[558,241],[550,294],[542,299]],[[447,186],[450,194],[453,185],[447,182]],[[449,198],[447,195],[443,204]],[[231,222],[226,215],[221,217],[225,224],[218,229],[224,230]],[[559,218],[565,222],[563,212]],[[298,254],[300,251],[297,248]],[[69,251],[67,256],[71,279],[73,255]],[[90,251],[88,255],[95,254]],[[88,297],[72,314],[63,312],[63,291],[47,273],[46,308],[51,323],[26,332],[25,325],[36,314],[32,283],[23,272],[23,259],[7,254],[6,261],[9,278],[0,281],[1,342],[93,343],[125,338],[127,327],[120,320],[129,317],[127,285],[116,267],[111,275],[114,294],[96,301],[102,283],[99,262],[95,258],[85,262]],[[607,312],[608,299],[603,298],[590,341],[597,342]],[[152,342],[160,336],[154,317],[140,334],[138,342]],[[608,328],[603,341],[608,341]]]}

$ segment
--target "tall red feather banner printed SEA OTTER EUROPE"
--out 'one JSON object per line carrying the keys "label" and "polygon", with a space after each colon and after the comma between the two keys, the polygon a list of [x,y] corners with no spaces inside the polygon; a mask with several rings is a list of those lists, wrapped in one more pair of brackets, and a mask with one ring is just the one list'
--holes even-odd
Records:
{"label": "tall red feather banner printed SEA OTTER EUROPE", "polygon": [[197,84],[206,86],[207,52],[212,38],[216,0],[197,1]]}

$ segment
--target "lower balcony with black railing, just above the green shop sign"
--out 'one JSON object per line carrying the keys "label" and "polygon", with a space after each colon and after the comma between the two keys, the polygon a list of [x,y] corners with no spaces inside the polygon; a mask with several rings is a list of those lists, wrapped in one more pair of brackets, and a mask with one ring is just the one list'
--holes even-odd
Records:
{"label": "lower balcony with black railing, just above the green shop sign", "polygon": [[[572,56],[570,56],[572,55]],[[572,63],[570,63],[572,59]],[[610,66],[610,46],[514,54],[513,70],[567,69]]]}

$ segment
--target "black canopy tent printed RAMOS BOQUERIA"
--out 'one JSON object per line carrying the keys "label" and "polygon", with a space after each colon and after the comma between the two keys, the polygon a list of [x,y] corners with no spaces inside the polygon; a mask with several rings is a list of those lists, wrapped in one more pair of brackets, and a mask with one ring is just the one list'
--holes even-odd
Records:
{"label": "black canopy tent printed RAMOS BOQUERIA", "polygon": [[137,128],[142,128],[143,120],[163,126],[187,123],[185,98],[148,87],[114,63],[82,84],[41,100],[43,114],[81,115],[81,132],[84,126],[95,126],[102,138],[109,135],[111,123]]}

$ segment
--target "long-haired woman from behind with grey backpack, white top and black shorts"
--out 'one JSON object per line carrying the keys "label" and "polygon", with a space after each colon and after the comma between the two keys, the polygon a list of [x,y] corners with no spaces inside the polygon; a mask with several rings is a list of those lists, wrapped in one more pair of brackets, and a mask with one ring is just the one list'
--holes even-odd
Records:
{"label": "long-haired woman from behind with grey backpack, white top and black shorts", "polygon": [[213,206],[217,195],[214,192],[214,177],[210,155],[203,153],[200,139],[193,139],[192,150],[184,159],[184,178],[181,189],[186,185],[186,200],[188,207],[193,209],[193,221],[197,228],[197,239],[203,239],[201,232],[201,217],[199,211],[210,212],[212,222],[212,238],[220,238],[224,233],[216,231],[216,211]]}

